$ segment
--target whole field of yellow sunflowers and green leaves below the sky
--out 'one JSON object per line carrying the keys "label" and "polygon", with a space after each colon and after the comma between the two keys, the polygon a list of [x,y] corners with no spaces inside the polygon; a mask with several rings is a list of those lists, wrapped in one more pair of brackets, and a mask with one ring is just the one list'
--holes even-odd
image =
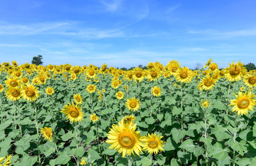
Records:
{"label": "whole field of yellow sunflowers and green leaves below the sky", "polygon": [[256,165],[256,72],[0,64],[0,165]]}

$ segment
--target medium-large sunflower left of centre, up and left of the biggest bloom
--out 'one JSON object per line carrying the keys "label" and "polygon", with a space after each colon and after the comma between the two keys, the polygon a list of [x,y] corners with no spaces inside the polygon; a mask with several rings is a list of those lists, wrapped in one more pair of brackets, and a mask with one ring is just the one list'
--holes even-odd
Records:
{"label": "medium-large sunflower left of centre, up and left of the biggest bloom", "polygon": [[83,120],[84,116],[81,110],[81,107],[74,105],[74,102],[72,102],[72,104],[67,103],[64,109],[61,109],[61,113],[65,113],[66,118],[69,119],[70,122],[80,122]]}

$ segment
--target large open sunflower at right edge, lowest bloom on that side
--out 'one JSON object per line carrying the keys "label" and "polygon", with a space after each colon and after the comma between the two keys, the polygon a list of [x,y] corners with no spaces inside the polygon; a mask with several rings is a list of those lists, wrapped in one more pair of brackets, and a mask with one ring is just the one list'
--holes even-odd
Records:
{"label": "large open sunflower at right edge, lowest bloom on that side", "polygon": [[[235,94],[234,94],[235,95]],[[251,92],[239,92],[238,95],[235,95],[237,99],[230,100],[230,105],[234,106],[232,112],[237,112],[237,115],[247,114],[248,109],[253,111],[253,107],[256,105],[255,95]]]}

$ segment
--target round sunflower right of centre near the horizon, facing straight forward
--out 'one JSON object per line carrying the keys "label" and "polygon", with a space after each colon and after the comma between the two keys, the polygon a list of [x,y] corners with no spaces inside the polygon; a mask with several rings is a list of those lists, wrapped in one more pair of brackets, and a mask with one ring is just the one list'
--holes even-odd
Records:
{"label": "round sunflower right of centre near the horizon, facing straight forward", "polygon": [[175,78],[178,82],[189,83],[193,78],[193,71],[187,67],[179,68],[175,74]]}

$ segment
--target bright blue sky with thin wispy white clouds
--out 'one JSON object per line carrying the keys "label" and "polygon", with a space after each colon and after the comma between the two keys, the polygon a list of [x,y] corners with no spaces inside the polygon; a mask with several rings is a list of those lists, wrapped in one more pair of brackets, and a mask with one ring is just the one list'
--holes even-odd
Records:
{"label": "bright blue sky with thin wispy white clouds", "polygon": [[1,0],[2,62],[256,64],[254,0]]}

